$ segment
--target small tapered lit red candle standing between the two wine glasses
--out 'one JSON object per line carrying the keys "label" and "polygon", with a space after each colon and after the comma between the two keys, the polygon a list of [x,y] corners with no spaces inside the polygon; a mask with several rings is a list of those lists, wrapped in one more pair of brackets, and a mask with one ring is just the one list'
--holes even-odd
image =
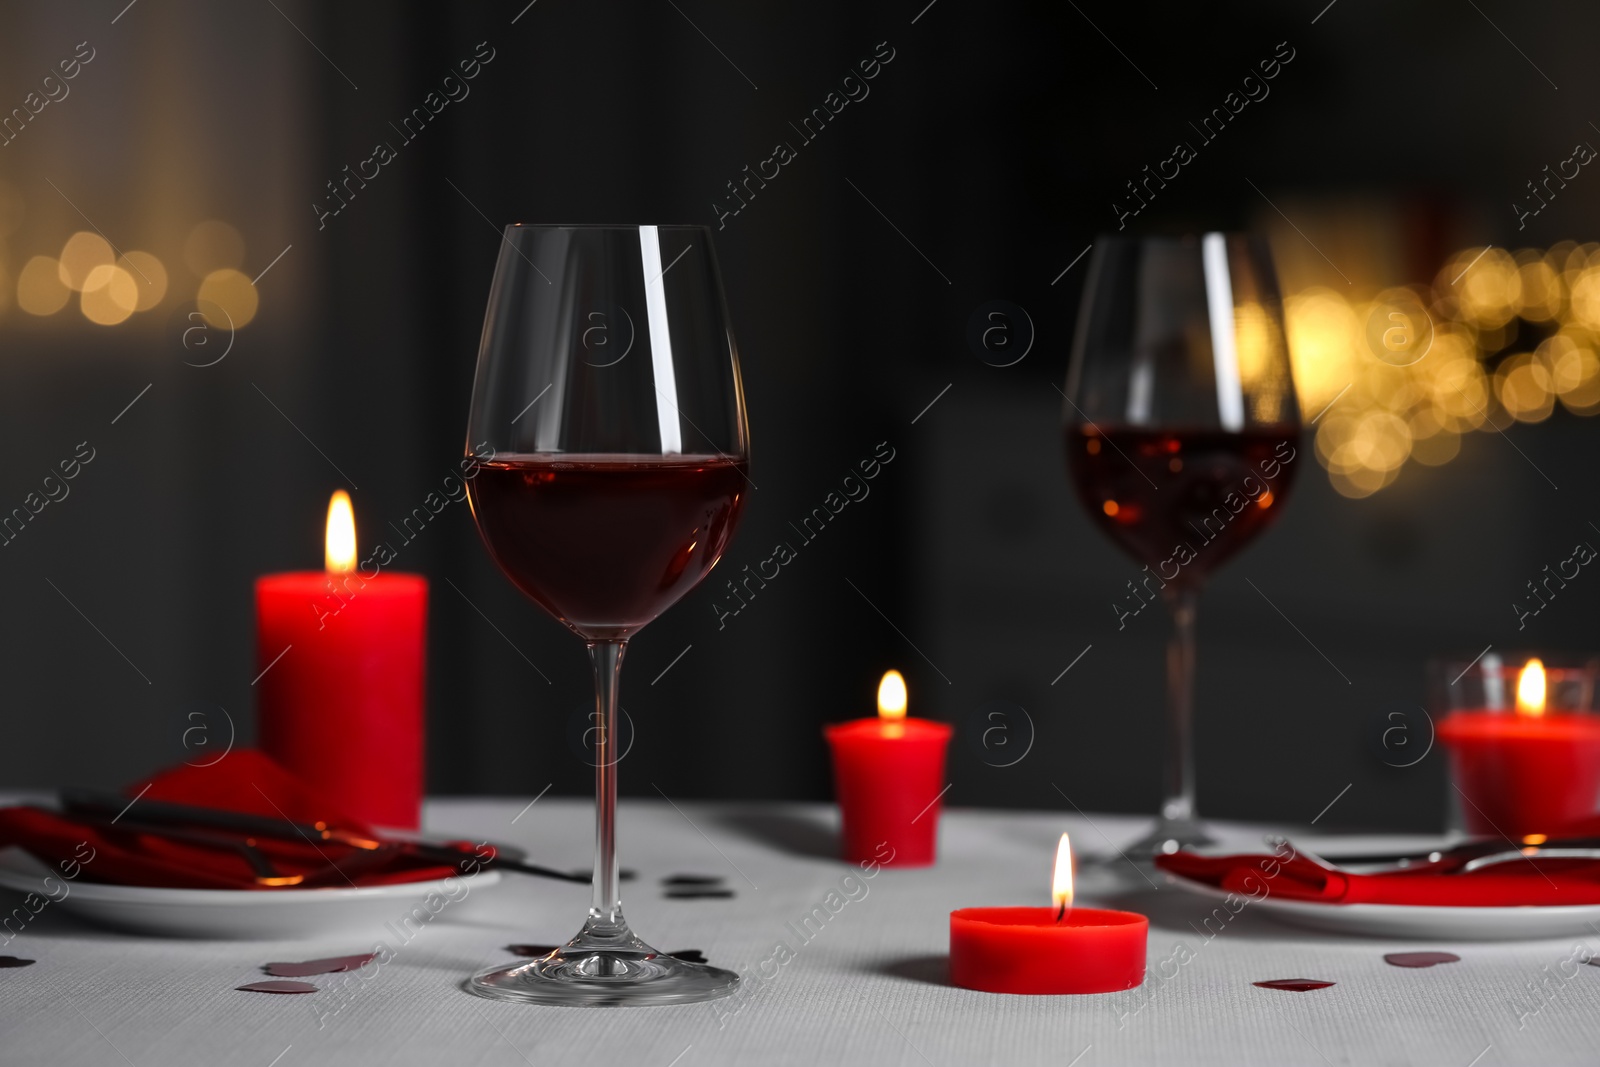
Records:
{"label": "small tapered lit red candle standing between the two wine glasses", "polygon": [[[824,726],[850,862],[926,867],[938,856],[944,750],[954,729],[906,717],[906,678],[878,683],[878,717]],[[890,856],[885,859],[885,853]]]}

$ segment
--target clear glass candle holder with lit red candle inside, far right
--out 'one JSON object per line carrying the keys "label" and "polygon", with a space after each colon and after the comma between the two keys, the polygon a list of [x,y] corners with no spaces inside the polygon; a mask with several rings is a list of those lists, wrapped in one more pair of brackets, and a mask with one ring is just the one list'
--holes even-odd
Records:
{"label": "clear glass candle holder with lit red candle inside, far right", "polygon": [[1600,657],[1488,651],[1429,664],[1459,825],[1539,843],[1600,813]]}

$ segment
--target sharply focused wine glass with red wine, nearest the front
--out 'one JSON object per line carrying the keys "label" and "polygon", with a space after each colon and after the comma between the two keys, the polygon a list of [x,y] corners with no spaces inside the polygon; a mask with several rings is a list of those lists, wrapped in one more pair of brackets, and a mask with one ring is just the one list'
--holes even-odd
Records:
{"label": "sharply focused wine glass with red wine, nearest the front", "polygon": [[664,955],[622,918],[618,680],[627,640],[694,589],[744,509],[749,430],[722,275],[702,226],[509,226],[490,288],[467,496],[501,571],[589,646],[594,902],[547,957],[482,997],[662,1005],[739,976]]}

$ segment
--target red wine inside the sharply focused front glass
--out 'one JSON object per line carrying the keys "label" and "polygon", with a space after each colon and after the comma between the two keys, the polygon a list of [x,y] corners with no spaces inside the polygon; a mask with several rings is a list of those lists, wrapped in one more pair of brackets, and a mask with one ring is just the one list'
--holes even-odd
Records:
{"label": "red wine inside the sharply focused front glass", "polygon": [[490,553],[589,640],[627,637],[694,589],[744,507],[726,456],[496,456],[467,482]]}

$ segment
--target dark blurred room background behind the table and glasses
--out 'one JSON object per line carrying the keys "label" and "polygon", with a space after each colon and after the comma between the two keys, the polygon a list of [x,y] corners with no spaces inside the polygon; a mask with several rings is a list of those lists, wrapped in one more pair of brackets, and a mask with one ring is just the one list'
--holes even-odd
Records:
{"label": "dark blurred room background behind the table and glasses", "polygon": [[[827,797],[819,726],[870,713],[899,667],[912,712],[958,726],[947,803],[1154,809],[1165,621],[1118,632],[1110,601],[1138,566],[1069,494],[1054,386],[1086,261],[1062,270],[1115,229],[1123,181],[1280,42],[1294,59],[1272,94],[1134,229],[1267,229],[1286,290],[1344,285],[1314,240],[1371,291],[1427,282],[1459,248],[1600,224],[1587,173],[1522,234],[1509,208],[1600,138],[1600,14],[1578,5],[123,3],[3,8],[0,109],[77,42],[96,50],[0,147],[0,510],[78,442],[96,450],[0,549],[5,787],[173,763],[195,707],[253,737],[251,582],[318,565],[331,490],[374,531],[450,472],[498,227],[715,227],[725,182],[797,142],[789,123],[878,42],[894,59],[870,96],[717,230],[760,490],[726,569],[629,649],[624,792]],[[389,123],[478,42],[494,59],[470,96],[318,229],[325,182],[398,144]],[[168,261],[160,309],[102,328],[14,307],[21,264],[85,218]],[[251,277],[288,251],[202,370],[173,323],[195,285],[179,250],[208,218],[243,234]],[[990,299],[1037,328],[1010,368],[966,344]],[[1437,825],[1442,753],[1386,766],[1384,715],[1424,699],[1434,654],[1600,645],[1600,585],[1579,579],[1523,633],[1507,609],[1600,518],[1597,429],[1558,411],[1472,434],[1366,499],[1307,459],[1286,515],[1202,601],[1202,809],[1309,821],[1354,784],[1320,825]],[[722,579],[880,442],[896,459],[872,496],[718,630]],[[464,506],[398,566],[432,581],[430,790],[584,792],[579,643],[494,571]],[[1019,745],[1035,734],[1014,766],[971,744],[994,701],[1026,709]]]}

